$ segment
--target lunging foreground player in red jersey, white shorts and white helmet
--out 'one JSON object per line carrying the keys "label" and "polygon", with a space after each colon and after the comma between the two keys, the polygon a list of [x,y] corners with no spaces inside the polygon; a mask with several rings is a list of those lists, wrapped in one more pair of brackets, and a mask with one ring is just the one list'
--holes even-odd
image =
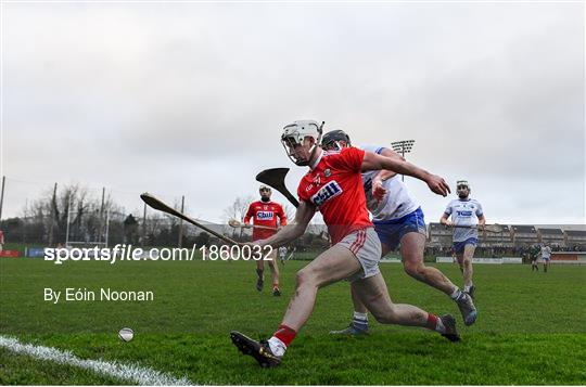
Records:
{"label": "lunging foreground player in red jersey, white shorts and white helmet", "polygon": [[459,340],[454,317],[436,317],[418,307],[391,300],[379,270],[381,242],[369,220],[360,171],[386,169],[412,176],[443,196],[449,192],[447,183],[408,162],[356,147],[323,152],[319,146],[320,138],[321,126],[316,121],[295,121],[284,127],[281,141],[289,157],[298,166],[308,166],[309,171],[297,189],[300,206],[295,221],[254,244],[278,247],[300,237],[319,209],[332,237],[332,246],[297,272],[295,293],[281,325],[270,339],[256,341],[232,331],[232,343],[262,366],[279,365],[286,348],[311,314],[318,289],[342,280],[353,283],[359,299],[377,321],[422,326],[449,340]]}

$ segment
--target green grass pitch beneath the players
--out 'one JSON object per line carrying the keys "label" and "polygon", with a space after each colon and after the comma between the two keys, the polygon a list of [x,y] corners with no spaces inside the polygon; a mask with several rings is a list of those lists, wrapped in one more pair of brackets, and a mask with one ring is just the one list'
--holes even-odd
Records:
{"label": "green grass pitch beneath the players", "polygon": [[[480,317],[466,327],[456,305],[403,272],[381,270],[396,302],[457,317],[462,341],[371,319],[368,337],[332,337],[349,322],[347,283],[321,289],[314,314],[283,364],[263,370],[240,356],[229,332],[269,337],[281,321],[296,270],[281,267],[283,297],[254,288],[253,262],[66,262],[0,260],[0,334],[71,350],[84,359],[150,366],[195,384],[586,384],[586,268],[476,265]],[[456,284],[454,265],[440,265]],[[268,278],[267,278],[268,279]],[[43,288],[145,289],[153,301],[43,301]],[[123,343],[117,331],[135,330]],[[0,383],[125,384],[0,349]]]}

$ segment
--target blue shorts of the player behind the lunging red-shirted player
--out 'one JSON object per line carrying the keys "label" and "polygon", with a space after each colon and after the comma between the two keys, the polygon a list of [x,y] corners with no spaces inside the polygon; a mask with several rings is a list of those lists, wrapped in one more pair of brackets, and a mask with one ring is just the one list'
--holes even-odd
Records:
{"label": "blue shorts of the player behind the lunging red-shirted player", "polygon": [[425,235],[425,219],[423,218],[421,207],[418,207],[415,211],[407,214],[403,218],[372,223],[381,243],[387,245],[392,250],[398,247],[403,235],[409,232]]}

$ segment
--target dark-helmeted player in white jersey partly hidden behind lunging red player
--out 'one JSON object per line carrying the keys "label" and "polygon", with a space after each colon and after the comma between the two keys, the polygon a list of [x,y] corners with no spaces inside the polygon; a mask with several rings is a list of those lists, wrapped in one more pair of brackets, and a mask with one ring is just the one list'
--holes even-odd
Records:
{"label": "dark-helmeted player in white jersey partly hidden behind lunging red player", "polygon": [[[324,150],[352,146],[348,134],[342,130],[332,130],[323,134],[321,143]],[[359,147],[367,152],[403,159],[397,153],[382,146]],[[362,172],[362,186],[374,230],[381,240],[381,257],[400,245],[405,272],[449,296],[458,305],[466,325],[473,324],[476,320],[476,308],[472,298],[454,285],[440,270],[423,263],[426,238],[423,212],[400,177],[392,171],[366,171]],[[367,308],[358,299],[354,287],[351,286],[351,289],[354,304],[353,321],[347,328],[332,331],[332,334],[368,333]]]}

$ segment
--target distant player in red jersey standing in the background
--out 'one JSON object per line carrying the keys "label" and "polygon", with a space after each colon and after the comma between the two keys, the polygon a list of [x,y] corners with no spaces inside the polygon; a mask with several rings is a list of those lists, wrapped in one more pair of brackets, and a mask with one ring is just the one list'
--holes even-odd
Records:
{"label": "distant player in red jersey standing in the background", "polygon": [[[251,203],[249,206],[249,211],[244,217],[245,224],[250,225],[250,221],[253,219],[254,225],[260,225],[259,228],[255,227],[253,229],[253,241],[266,240],[275,235],[279,227],[279,224],[277,224],[277,218],[279,218],[279,223],[281,227],[286,224],[286,216],[283,211],[283,207],[279,203],[270,201],[270,188],[267,185],[260,185],[258,191],[260,192],[260,201]],[[277,249],[275,249],[268,258],[270,258],[268,262],[270,275],[272,278],[272,295],[280,296],[281,291],[279,289],[279,266],[277,265]],[[263,285],[265,284],[264,273],[265,260],[258,259],[256,261],[256,274],[258,275],[258,279],[256,280],[256,289],[258,292],[263,291]]]}

